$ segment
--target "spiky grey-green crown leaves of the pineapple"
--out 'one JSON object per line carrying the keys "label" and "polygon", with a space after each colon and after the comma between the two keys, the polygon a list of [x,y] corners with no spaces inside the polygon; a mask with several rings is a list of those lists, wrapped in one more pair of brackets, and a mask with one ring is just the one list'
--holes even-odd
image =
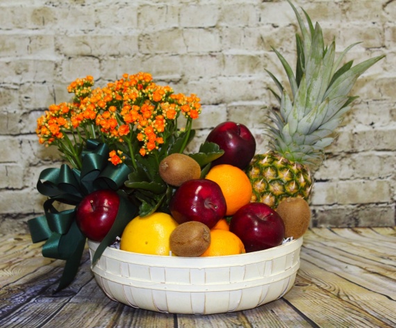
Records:
{"label": "spiky grey-green crown leaves of the pineapple", "polygon": [[279,80],[269,72],[279,89],[272,94],[280,104],[279,113],[270,116],[276,127],[270,127],[270,147],[290,161],[317,166],[324,156],[324,147],[333,142],[333,131],[343,121],[357,97],[349,96],[358,76],[381,60],[377,56],[352,66],[353,61],[341,65],[347,52],[360,42],[349,45],[336,58],[336,42],[324,45],[320,24],[313,26],[311,18],[303,9],[308,27],[297,9],[294,10],[301,31],[296,34],[297,65],[295,73],[286,59],[273,49],[286,71],[292,99]]}

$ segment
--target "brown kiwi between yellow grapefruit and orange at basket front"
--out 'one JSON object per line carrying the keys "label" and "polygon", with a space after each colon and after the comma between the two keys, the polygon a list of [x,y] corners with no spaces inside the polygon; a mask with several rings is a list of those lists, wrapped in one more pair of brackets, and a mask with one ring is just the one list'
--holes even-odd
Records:
{"label": "brown kiwi between yellow grapefruit and orange at basket front", "polygon": [[211,245],[211,230],[201,222],[184,222],[170,235],[170,250],[177,256],[200,256],[209,245]]}

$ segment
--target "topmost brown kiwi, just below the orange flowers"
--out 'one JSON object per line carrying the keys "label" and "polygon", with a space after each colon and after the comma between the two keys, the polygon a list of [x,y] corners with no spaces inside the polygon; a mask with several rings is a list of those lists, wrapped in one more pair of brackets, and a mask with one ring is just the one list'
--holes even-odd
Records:
{"label": "topmost brown kiwi, just below the orange flowers", "polygon": [[199,179],[201,167],[190,156],[170,154],[160,161],[160,177],[171,186],[179,187],[185,181]]}

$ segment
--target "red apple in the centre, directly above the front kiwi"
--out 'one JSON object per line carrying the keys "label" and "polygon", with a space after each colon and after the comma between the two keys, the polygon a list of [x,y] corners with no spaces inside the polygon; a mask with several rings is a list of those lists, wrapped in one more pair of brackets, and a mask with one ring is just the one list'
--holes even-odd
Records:
{"label": "red apple in the centre, directly above the front kiwi", "polygon": [[170,213],[179,224],[197,221],[211,229],[226,214],[226,201],[215,181],[192,179],[181,184],[174,193]]}

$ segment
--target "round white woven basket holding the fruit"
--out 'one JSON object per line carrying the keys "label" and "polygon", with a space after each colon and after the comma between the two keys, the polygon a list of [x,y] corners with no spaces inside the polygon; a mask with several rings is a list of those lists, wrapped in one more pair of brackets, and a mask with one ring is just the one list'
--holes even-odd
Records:
{"label": "round white woven basket holding the fruit", "polygon": [[[98,243],[88,240],[90,256]],[[186,258],[107,247],[92,268],[110,299],[167,313],[253,309],[285,295],[299,268],[302,238],[261,252]]]}

